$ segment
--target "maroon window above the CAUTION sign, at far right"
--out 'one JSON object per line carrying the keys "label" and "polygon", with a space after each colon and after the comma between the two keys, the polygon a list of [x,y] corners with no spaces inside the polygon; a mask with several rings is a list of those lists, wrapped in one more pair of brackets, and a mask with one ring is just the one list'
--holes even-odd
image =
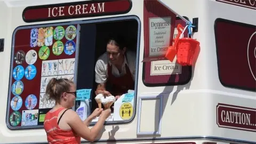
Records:
{"label": "maroon window above the CAUTION sign, at far right", "polygon": [[256,92],[255,29],[247,23],[215,20],[218,73],[223,86]]}

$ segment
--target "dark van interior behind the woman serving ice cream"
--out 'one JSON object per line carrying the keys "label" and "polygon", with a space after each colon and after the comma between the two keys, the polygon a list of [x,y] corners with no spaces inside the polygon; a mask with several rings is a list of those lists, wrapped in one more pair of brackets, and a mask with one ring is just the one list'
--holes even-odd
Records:
{"label": "dark van interior behind the woman serving ice cream", "polygon": [[[97,108],[94,100],[95,71],[94,66],[101,54],[106,52],[108,38],[112,35],[122,35],[127,44],[127,50],[137,52],[138,21],[123,20],[82,24],[79,38],[79,56],[77,71],[77,90],[92,89],[92,109]],[[77,101],[76,108],[80,103]]]}

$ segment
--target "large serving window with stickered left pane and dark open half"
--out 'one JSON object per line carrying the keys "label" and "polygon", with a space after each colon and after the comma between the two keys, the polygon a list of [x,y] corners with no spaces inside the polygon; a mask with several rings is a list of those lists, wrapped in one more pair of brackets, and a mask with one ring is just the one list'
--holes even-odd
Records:
{"label": "large serving window with stickered left pane and dark open half", "polygon": [[[137,17],[17,28],[12,42],[7,127],[12,130],[43,127],[45,114],[55,106],[54,101],[45,99],[46,85],[53,77],[71,79],[78,91],[89,92],[83,101],[87,104],[84,113],[90,115],[98,107],[94,100],[95,63],[106,52],[110,35],[124,37],[127,50],[137,57],[134,61],[138,69],[140,21]],[[135,85],[137,73],[136,70]],[[115,102],[113,114],[106,123],[130,122],[135,115],[135,94],[135,89],[124,93]],[[80,103],[76,101],[74,110]],[[97,121],[94,119],[92,124]]]}

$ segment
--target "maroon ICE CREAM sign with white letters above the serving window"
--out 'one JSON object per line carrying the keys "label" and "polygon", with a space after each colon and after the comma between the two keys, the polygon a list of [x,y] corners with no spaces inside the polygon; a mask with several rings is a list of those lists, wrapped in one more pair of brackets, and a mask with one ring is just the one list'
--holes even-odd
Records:
{"label": "maroon ICE CREAM sign with white letters above the serving window", "polygon": [[23,13],[25,22],[96,17],[123,14],[131,10],[130,0],[84,1],[27,7]]}

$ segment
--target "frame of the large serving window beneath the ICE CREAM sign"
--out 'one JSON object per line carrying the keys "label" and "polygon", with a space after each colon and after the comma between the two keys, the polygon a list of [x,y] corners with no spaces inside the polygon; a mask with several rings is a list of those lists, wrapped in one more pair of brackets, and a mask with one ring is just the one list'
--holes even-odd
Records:
{"label": "frame of the large serving window beneath the ICE CREAM sign", "polygon": [[[120,17],[111,17],[111,18],[99,18],[99,19],[90,19],[90,20],[74,20],[74,21],[67,21],[67,22],[52,22],[52,23],[44,23],[44,24],[38,24],[38,25],[25,25],[25,26],[19,26],[14,29],[12,34],[12,49],[11,49],[11,63],[10,63],[10,73],[9,73],[9,87],[8,87],[8,95],[7,95],[7,109],[6,109],[6,126],[10,130],[28,130],[28,129],[42,129],[44,125],[33,125],[33,126],[11,126],[9,122],[10,117],[10,107],[11,107],[11,94],[12,94],[12,73],[13,73],[13,62],[14,62],[14,44],[15,44],[15,34],[18,30],[22,29],[31,29],[31,28],[39,28],[39,27],[55,27],[55,26],[65,26],[65,25],[77,25],[77,29],[80,30],[81,24],[86,23],[103,23],[103,22],[117,22],[122,20],[137,20],[138,22],[138,36],[137,36],[137,53],[136,53],[136,71],[135,71],[135,86],[134,86],[134,100],[133,100],[133,115],[130,119],[124,120],[124,121],[111,121],[111,122],[105,122],[105,125],[114,125],[114,124],[125,124],[130,123],[135,118],[136,114],[136,106],[137,106],[137,90],[138,90],[138,73],[139,73],[139,57],[140,57],[140,36],[141,36],[141,21],[140,18],[137,15],[125,15]],[[79,31],[78,31],[79,32]],[[81,33],[77,34],[77,40],[76,45],[78,47],[76,48],[76,54],[75,54],[75,72],[74,72],[74,83],[77,83],[77,71],[78,71],[78,56],[79,56],[79,40],[80,40]],[[75,110],[75,106],[72,108]],[[38,108],[39,110],[39,108]],[[39,114],[38,114],[39,116]],[[92,122],[91,125],[95,125],[97,122]]]}

